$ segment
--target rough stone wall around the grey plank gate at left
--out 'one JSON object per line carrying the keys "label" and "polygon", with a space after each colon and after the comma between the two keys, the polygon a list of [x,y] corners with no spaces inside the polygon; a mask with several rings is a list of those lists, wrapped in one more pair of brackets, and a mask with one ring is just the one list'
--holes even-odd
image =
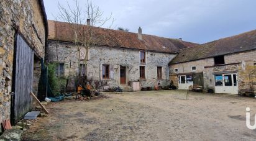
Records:
{"label": "rough stone wall around the grey plank gate at left", "polygon": [[0,2],[0,123],[10,119],[14,37],[17,27],[39,57],[44,57],[45,26],[39,1]]}

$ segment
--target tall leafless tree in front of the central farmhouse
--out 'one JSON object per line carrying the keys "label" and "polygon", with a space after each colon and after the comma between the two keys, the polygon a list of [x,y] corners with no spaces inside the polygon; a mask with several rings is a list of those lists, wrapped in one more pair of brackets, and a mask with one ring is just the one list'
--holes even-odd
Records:
{"label": "tall leafless tree in front of the central farmhouse", "polygon": [[95,27],[102,27],[107,22],[111,22],[112,25],[114,19],[112,19],[112,14],[103,18],[103,11],[98,6],[94,6],[91,0],[86,0],[85,6],[83,6],[85,9],[81,8],[77,0],[74,0],[74,3],[73,7],[69,2],[67,2],[67,7],[58,3],[60,11],[58,19],[68,22],[73,32],[73,43],[78,53],[78,68],[81,76],[81,61],[87,66],[89,49],[99,42]]}

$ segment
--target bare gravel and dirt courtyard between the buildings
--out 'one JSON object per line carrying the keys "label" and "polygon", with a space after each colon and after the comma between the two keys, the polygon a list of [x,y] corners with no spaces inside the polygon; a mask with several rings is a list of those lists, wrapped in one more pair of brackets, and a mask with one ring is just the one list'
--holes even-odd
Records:
{"label": "bare gravel and dirt courtyard between the buildings", "polygon": [[255,140],[245,125],[245,107],[256,99],[185,91],[107,94],[93,101],[47,105],[24,140]]}

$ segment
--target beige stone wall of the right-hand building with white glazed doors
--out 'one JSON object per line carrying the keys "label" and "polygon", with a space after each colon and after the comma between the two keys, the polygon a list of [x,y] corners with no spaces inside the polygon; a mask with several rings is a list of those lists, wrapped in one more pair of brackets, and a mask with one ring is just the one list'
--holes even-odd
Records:
{"label": "beige stone wall of the right-hand building with white glazed doors", "polygon": [[[239,90],[250,89],[249,73],[252,70],[256,70],[256,50],[224,55],[224,60],[227,65],[214,66],[213,58],[170,65],[170,79],[178,86],[178,79],[175,78],[176,74],[197,73],[203,71],[204,88],[214,89],[214,73],[236,72]],[[191,66],[196,66],[196,71],[192,71]],[[174,73],[174,68],[178,68],[179,72]],[[256,82],[256,78],[254,78],[254,81]]]}

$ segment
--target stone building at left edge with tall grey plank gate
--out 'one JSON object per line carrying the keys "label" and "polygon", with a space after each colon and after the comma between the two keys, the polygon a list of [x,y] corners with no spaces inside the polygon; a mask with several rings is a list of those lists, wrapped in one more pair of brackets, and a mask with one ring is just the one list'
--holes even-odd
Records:
{"label": "stone building at left edge with tall grey plank gate", "polygon": [[[0,2],[0,124],[16,122],[32,109],[48,24],[43,1]],[[1,132],[1,126],[0,126]]]}

